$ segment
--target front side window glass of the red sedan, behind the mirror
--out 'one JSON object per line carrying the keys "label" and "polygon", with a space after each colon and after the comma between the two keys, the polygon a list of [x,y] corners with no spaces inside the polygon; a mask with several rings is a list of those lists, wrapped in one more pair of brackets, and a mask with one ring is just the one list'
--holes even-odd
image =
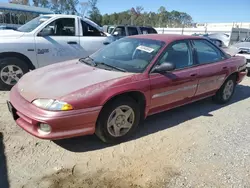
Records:
{"label": "front side window glass of the red sedan, behind the mirror", "polygon": [[164,62],[173,63],[176,69],[182,69],[193,65],[192,51],[187,41],[178,41],[170,44],[163,52],[158,64]]}

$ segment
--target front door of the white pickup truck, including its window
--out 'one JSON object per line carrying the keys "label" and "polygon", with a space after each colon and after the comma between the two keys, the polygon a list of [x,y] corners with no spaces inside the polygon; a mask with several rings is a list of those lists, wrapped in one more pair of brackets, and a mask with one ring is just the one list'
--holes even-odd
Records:
{"label": "front door of the white pickup truck, including its window", "polygon": [[[39,67],[78,57],[80,44],[75,18],[58,18],[35,37]],[[43,35],[47,31],[47,35]]]}

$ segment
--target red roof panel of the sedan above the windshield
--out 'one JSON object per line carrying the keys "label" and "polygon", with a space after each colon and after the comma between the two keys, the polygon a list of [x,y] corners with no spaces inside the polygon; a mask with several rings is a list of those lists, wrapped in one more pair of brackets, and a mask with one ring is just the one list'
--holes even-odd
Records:
{"label": "red roof panel of the sedan above the windshield", "polygon": [[178,35],[178,34],[145,34],[145,35],[133,35],[129,36],[129,38],[159,40],[166,43],[184,39],[204,39],[204,37],[199,37],[199,36]]}

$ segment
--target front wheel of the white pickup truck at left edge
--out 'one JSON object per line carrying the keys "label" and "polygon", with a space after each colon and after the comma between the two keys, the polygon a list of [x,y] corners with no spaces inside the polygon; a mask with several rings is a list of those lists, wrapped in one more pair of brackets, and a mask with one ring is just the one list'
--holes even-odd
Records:
{"label": "front wheel of the white pickup truck at left edge", "polygon": [[10,90],[28,71],[28,65],[16,57],[0,59],[0,88]]}

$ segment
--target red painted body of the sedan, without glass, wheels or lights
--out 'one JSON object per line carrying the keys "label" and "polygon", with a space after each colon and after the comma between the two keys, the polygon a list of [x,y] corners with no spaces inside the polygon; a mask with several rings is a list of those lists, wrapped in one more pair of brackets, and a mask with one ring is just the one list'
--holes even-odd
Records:
{"label": "red painted body of the sedan, without glass, wheels or lights", "polygon": [[[237,73],[237,83],[246,76],[245,71],[238,70],[245,64],[244,57],[232,57],[165,75],[151,74],[150,69],[169,43],[197,37],[159,34],[133,37],[161,40],[166,43],[144,73],[106,71],[78,63],[77,60],[37,69],[23,76],[10,92],[10,102],[19,117],[16,123],[30,134],[42,139],[94,134],[102,107],[117,95],[131,91],[142,93],[146,99],[146,117],[214,95],[232,73]],[[182,90],[183,88],[189,89]],[[154,97],[162,93],[165,95]],[[37,98],[65,101],[71,104],[74,110],[43,110],[31,103]],[[52,132],[41,135],[38,132],[39,123],[49,124]]]}

